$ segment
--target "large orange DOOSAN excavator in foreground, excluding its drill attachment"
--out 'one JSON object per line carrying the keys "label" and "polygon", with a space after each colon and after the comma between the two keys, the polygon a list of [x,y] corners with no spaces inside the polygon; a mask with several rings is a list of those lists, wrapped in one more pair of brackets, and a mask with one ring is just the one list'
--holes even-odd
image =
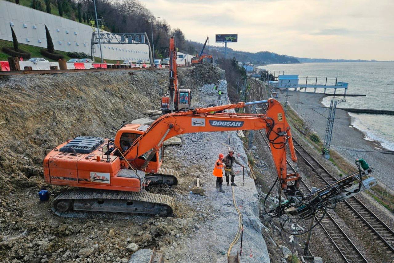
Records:
{"label": "large orange DOOSAN excavator in foreground, excluding its drill attachment", "polygon": [[300,177],[298,173],[286,173],[286,144],[292,160],[296,162],[297,158],[281,104],[269,99],[266,114],[217,113],[253,103],[261,101],[174,112],[150,126],[124,124],[114,139],[79,136],[59,145],[45,157],[46,183],[85,189],[61,192],[52,202],[52,210],[70,217],[80,216],[80,211],[171,215],[174,200],[148,193],[144,187],[150,183],[178,183],[177,176],[160,168],[162,145],[175,135],[191,132],[265,129],[282,188],[287,189],[289,181],[298,182]]}

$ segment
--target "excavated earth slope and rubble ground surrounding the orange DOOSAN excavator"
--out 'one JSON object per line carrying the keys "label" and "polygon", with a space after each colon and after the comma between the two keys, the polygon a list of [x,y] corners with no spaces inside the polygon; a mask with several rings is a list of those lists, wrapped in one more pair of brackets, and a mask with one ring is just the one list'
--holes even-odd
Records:
{"label": "excavated earth slope and rubble ground surrounding the orange DOOSAN excavator", "polygon": [[[180,86],[190,88],[193,103],[206,105],[216,97],[196,88],[190,69],[181,69]],[[210,79],[217,81],[217,75]],[[172,218],[135,216],[132,220],[95,214],[91,218],[60,218],[50,201],[40,202],[46,188],[50,200],[63,187],[43,180],[46,153],[78,135],[113,138],[122,121],[145,117],[158,109],[168,86],[168,71],[69,73],[12,76],[0,80],[0,261],[2,262],[127,262],[143,248],[156,247],[165,262],[225,262],[238,226],[230,187],[218,194],[213,162],[229,136],[231,146],[246,161],[235,133],[185,134],[183,145],[166,146],[163,167],[177,169],[176,187],[153,187],[177,201]],[[228,142],[227,142],[228,144]],[[203,149],[203,151],[199,151]],[[239,171],[239,166],[237,166]],[[236,183],[241,185],[240,173]],[[206,196],[193,194],[201,178]],[[245,173],[245,186],[235,189],[244,216],[247,262],[268,262],[258,219],[257,193]],[[239,250],[239,242],[233,253]],[[253,253],[253,257],[249,254]],[[246,259],[247,258],[247,259]]]}

